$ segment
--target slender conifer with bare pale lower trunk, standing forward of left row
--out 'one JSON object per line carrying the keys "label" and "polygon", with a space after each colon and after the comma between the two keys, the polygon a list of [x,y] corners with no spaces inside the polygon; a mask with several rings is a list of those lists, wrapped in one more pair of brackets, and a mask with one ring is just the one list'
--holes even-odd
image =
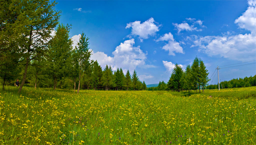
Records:
{"label": "slender conifer with bare pale lower trunk, standing forward of left row", "polygon": [[84,71],[90,66],[90,57],[92,50],[89,50],[89,38],[86,37],[84,33],[81,34],[79,42],[77,43],[78,47],[75,47],[76,59],[78,60],[78,69],[79,69],[79,83],[77,94],[80,89],[80,80],[81,74],[84,75]]}

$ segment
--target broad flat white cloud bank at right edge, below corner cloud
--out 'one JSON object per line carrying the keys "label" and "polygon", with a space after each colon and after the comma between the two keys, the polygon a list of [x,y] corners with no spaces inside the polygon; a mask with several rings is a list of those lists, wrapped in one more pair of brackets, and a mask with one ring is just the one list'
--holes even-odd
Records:
{"label": "broad flat white cloud bank at right edge, below corner cloud", "polygon": [[195,36],[194,45],[208,56],[218,55],[233,60],[254,60],[256,54],[256,37],[252,34],[232,36]]}

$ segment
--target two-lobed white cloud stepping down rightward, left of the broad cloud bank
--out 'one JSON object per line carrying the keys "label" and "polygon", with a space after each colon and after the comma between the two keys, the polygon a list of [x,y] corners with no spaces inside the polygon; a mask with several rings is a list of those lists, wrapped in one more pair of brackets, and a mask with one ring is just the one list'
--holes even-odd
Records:
{"label": "two-lobed white cloud stepping down rightward, left of the broad cloud bank", "polygon": [[163,46],[162,49],[169,51],[169,55],[175,55],[174,52],[184,54],[183,48],[174,40],[172,33],[169,32],[168,34],[164,34],[164,36],[156,40],[156,42],[158,41],[168,41],[168,43]]}

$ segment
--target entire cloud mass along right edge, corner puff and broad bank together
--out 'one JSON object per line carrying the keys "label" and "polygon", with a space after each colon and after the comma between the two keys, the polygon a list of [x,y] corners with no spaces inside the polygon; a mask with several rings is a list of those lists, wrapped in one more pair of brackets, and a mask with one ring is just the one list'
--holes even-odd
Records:
{"label": "entire cloud mass along right edge, corner puff and broad bank together", "polygon": [[191,36],[194,44],[209,56],[221,56],[233,60],[254,60],[256,55],[256,1],[248,1],[246,12],[235,20],[240,28],[250,30],[250,34],[224,33],[223,36]]}

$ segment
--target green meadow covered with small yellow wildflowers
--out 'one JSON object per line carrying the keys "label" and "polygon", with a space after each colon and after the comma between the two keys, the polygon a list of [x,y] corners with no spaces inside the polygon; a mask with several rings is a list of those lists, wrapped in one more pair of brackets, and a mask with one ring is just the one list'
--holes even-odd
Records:
{"label": "green meadow covered with small yellow wildflowers", "polygon": [[[211,97],[210,97],[211,96]],[[255,144],[256,87],[86,91],[6,87],[0,144]]]}

